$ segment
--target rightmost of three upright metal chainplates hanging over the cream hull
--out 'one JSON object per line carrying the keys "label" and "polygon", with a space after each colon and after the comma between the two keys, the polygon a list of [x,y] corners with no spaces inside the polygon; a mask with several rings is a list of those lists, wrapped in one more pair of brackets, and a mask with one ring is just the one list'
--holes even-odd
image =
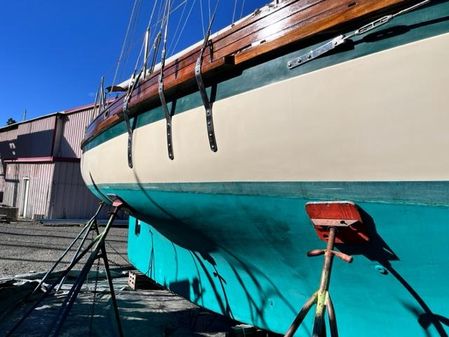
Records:
{"label": "rightmost of three upright metal chainplates hanging over the cream hull", "polygon": [[207,47],[209,47],[209,55],[212,55],[212,41],[209,40],[210,32],[212,28],[212,23],[215,19],[215,14],[217,12],[219,1],[217,1],[217,6],[215,7],[214,13],[209,21],[209,26],[207,28],[206,36],[204,37],[203,45],[200,50],[200,55],[198,56],[195,63],[195,80],[198,86],[198,90],[201,95],[201,100],[203,101],[204,109],[206,110],[206,127],[207,127],[207,137],[209,138],[209,147],[213,152],[217,152],[217,140],[215,138],[215,128],[214,119],[212,115],[212,103],[207,95],[206,87],[204,85],[203,76],[201,74],[201,66],[203,64],[203,55]]}

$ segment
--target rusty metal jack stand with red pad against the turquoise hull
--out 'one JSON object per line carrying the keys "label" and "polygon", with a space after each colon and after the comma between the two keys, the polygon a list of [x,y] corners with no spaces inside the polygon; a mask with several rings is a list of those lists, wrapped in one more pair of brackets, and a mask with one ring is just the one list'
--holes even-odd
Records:
{"label": "rusty metal jack stand with red pad against the turquoise hull", "polygon": [[361,224],[361,217],[356,206],[351,202],[317,202],[306,204],[306,211],[310,216],[318,236],[327,241],[326,249],[313,249],[307,256],[324,255],[323,269],[319,289],[307,300],[299,311],[285,337],[292,337],[301,325],[311,307],[316,304],[315,320],[313,323],[313,337],[326,336],[324,315],[327,309],[329,328],[332,337],[338,337],[337,320],[334,305],[329,294],[329,282],[334,256],[347,263],[352,262],[352,256],[334,250],[335,243],[354,241],[368,241],[357,224]]}

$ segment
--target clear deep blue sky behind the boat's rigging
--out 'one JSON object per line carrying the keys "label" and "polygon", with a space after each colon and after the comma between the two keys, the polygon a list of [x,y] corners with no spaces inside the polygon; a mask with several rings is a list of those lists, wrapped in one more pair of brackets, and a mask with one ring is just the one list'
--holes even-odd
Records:
{"label": "clear deep blue sky behind the boat's rigging", "polygon": [[[184,0],[172,0],[178,7],[169,26],[172,52],[201,39],[200,1],[206,26],[209,3],[213,9],[216,0],[188,0],[185,5]],[[235,17],[268,2],[237,0]],[[130,33],[132,48],[118,80],[126,79],[134,68],[153,3],[143,1],[137,7],[140,10],[135,10],[140,15]],[[0,11],[0,126],[9,117],[21,121],[25,109],[30,119],[92,102],[100,77],[105,76],[106,84],[114,77],[133,4],[133,0],[4,1]],[[171,44],[177,27],[174,21],[181,15],[185,18],[192,5],[190,21],[175,50]],[[234,0],[221,0],[213,30],[230,23],[234,6]]]}

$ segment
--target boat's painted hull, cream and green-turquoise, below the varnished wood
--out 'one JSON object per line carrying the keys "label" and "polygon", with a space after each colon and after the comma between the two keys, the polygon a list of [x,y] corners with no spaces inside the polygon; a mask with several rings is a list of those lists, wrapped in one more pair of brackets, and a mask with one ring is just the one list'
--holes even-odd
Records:
{"label": "boat's painted hull, cream and green-turquoise, below the varnished wood", "polygon": [[[390,26],[289,70],[297,51],[209,88],[217,152],[199,93],[169,105],[174,160],[160,108],[131,121],[132,169],[123,122],[87,142],[88,187],[145,221],[130,220],[131,262],[199,305],[283,333],[319,285],[322,260],[306,253],[324,243],[305,203],[351,200],[371,240],[338,247],[354,255],[332,271],[342,335],[446,336],[449,6],[420,11],[427,21],[410,28],[406,14],[400,34]],[[310,327],[308,317],[298,335]]]}

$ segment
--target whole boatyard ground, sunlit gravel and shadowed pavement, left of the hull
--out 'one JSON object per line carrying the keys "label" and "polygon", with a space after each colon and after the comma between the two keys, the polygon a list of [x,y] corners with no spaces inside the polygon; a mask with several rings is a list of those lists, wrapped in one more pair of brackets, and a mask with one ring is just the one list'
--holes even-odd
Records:
{"label": "whole boatyard ground, sunlit gravel and shadowed pavement, left of the hull", "polygon": [[[14,324],[43,294],[42,291],[35,295],[31,292],[42,272],[53,265],[81,228],[73,224],[0,223],[0,337],[7,336]],[[130,265],[126,249],[127,228],[112,227],[106,250],[113,271],[124,336],[226,335],[234,323],[222,316],[204,311],[164,289],[131,290],[128,286]],[[72,254],[63,260],[66,265]],[[92,269],[89,280],[64,322],[61,336],[117,336],[105,274],[96,273],[96,265]],[[52,275],[56,278],[58,274]],[[51,327],[54,327],[55,317],[76,275],[76,272],[69,275],[61,291],[40,303],[11,336],[47,336],[55,331]],[[50,279],[47,284],[54,282]]]}

